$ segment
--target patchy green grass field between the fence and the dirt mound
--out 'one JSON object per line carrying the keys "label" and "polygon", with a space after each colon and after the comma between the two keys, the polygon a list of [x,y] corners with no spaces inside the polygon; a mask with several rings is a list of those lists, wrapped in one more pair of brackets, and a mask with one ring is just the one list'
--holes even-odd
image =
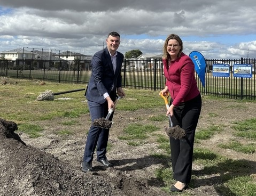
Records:
{"label": "patchy green grass field between the fence and the dirt mound", "polygon": [[[57,95],[54,101],[36,101],[36,97],[46,89],[57,93],[85,88],[84,84],[45,81],[44,85],[40,85],[41,81],[36,79],[1,77],[1,81],[3,80],[7,84],[0,86],[0,118],[15,121],[19,133],[26,134],[32,143],[33,140],[36,141],[35,145],[43,142],[44,134],[49,134],[46,127],[51,127],[51,124],[54,128],[52,132],[67,142],[69,137],[84,134],[79,133],[82,132],[79,129],[81,125],[89,126],[89,120],[81,120],[89,115],[83,91]],[[159,130],[167,125],[167,119],[164,112],[159,112],[159,109],[165,111],[159,91],[125,90],[127,95],[120,101],[117,113],[120,124],[122,121],[124,124],[113,126],[112,134],[116,132],[116,135],[112,137],[115,142],[110,142],[108,151],[111,153],[112,149],[117,148],[117,141],[129,146],[127,153],[135,148],[143,149],[144,145],[156,144],[160,152],[149,152],[151,157],[167,161],[170,153],[168,138]],[[67,97],[72,99],[66,99]],[[204,195],[207,189],[212,191],[212,194],[206,191],[207,195],[255,195],[255,106],[255,101],[203,96],[203,112],[196,133],[191,189],[180,195]],[[239,111],[243,112],[238,113]],[[61,128],[56,128],[57,125]],[[123,148],[123,144],[120,148]],[[144,169],[140,170],[137,172],[143,173]],[[172,169],[168,164],[155,168],[152,173],[162,182],[160,189],[168,192],[174,182]],[[207,185],[214,188],[207,188]]]}

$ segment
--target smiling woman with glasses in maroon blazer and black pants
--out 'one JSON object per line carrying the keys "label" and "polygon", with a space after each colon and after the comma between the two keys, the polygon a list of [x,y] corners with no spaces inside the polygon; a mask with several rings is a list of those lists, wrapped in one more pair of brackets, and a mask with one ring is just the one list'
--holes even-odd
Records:
{"label": "smiling woman with glasses in maroon blazer and black pants", "polygon": [[162,61],[166,85],[161,94],[170,93],[171,100],[166,115],[171,116],[174,127],[179,125],[186,133],[185,138],[169,138],[173,175],[177,180],[170,189],[173,192],[181,192],[190,182],[195,130],[201,111],[201,95],[195,79],[195,66],[182,50],[181,38],[170,34],[163,47]]}

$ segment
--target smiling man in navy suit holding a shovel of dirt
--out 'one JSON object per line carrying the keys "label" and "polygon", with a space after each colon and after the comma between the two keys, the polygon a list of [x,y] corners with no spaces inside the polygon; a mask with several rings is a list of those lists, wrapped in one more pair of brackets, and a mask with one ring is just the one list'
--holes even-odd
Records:
{"label": "smiling man in navy suit holding a shovel of dirt", "polygon": [[[116,95],[125,96],[121,85],[121,67],[123,54],[117,52],[120,35],[110,32],[106,39],[107,47],[94,54],[91,60],[91,78],[86,89],[86,99],[90,110],[91,121],[106,118],[108,111],[114,108]],[[109,120],[112,120],[113,113]],[[92,159],[97,146],[97,161],[103,166],[113,164],[106,158],[109,129],[91,126],[84,149],[82,171],[92,171]]]}

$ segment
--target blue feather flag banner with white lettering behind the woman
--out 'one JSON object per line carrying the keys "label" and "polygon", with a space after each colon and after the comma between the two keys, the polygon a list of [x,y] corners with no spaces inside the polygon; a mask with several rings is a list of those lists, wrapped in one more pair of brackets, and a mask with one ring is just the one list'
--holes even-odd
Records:
{"label": "blue feather flag banner with white lettering behind the woman", "polygon": [[197,51],[193,51],[189,54],[189,57],[192,59],[194,65],[195,65],[195,70],[197,72],[197,75],[199,76],[199,79],[205,88],[205,70],[206,70],[206,63],[205,63],[205,58],[203,54]]}

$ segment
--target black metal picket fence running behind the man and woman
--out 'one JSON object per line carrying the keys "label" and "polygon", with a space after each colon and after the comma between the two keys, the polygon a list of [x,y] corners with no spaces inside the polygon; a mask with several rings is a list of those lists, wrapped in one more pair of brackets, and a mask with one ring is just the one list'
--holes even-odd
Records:
{"label": "black metal picket fence running behind the man and woman", "polygon": [[[195,72],[198,88],[205,95],[255,100],[255,62],[255,59],[243,58],[240,60],[206,59],[205,88]],[[216,63],[229,64],[230,76],[213,76],[213,64]],[[232,71],[234,64],[252,64],[252,78],[234,77]],[[161,59],[125,59],[121,74],[122,85],[126,88],[160,91],[165,86]],[[1,60],[0,76],[87,84],[91,76],[90,60]]]}

